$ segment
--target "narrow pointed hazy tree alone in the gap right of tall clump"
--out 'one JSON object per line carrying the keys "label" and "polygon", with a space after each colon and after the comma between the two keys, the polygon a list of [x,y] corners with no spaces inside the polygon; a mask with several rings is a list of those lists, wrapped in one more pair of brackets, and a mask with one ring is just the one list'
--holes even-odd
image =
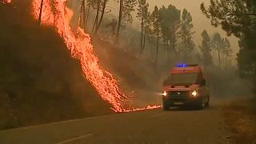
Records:
{"label": "narrow pointed hazy tree alone in the gap right of tall clump", "polygon": [[206,30],[202,31],[202,46],[199,46],[202,52],[202,60],[205,65],[211,65],[213,63],[212,56],[210,54],[210,37]]}

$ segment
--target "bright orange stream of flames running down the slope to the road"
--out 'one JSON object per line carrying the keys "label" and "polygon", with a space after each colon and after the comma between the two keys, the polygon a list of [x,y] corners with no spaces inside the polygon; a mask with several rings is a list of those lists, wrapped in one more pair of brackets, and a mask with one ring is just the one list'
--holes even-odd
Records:
{"label": "bright orange stream of flames running down the slope to the road", "polygon": [[[38,19],[41,0],[33,0],[33,15]],[[66,7],[66,0],[44,0],[42,7],[42,24],[55,26],[58,34],[64,39],[73,58],[81,62],[86,79],[96,88],[102,99],[112,105],[115,112],[131,112],[138,110],[156,109],[161,106],[146,106],[144,108],[126,109],[124,104],[129,99],[121,92],[118,81],[98,65],[90,43],[90,35],[78,27],[74,33],[70,28],[73,11]]]}

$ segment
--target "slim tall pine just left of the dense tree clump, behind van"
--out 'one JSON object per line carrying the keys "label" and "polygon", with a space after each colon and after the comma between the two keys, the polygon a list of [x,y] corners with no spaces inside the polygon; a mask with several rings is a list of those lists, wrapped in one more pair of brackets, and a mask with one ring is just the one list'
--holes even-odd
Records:
{"label": "slim tall pine just left of the dense tree clump, behind van", "polygon": [[155,57],[155,63],[158,63],[158,49],[159,49],[159,38],[160,38],[160,33],[161,33],[161,22],[160,22],[160,14],[158,10],[158,6],[154,6],[154,11],[152,13],[152,23],[153,23],[153,33],[156,36],[157,39],[157,52],[156,52],[156,57]]}

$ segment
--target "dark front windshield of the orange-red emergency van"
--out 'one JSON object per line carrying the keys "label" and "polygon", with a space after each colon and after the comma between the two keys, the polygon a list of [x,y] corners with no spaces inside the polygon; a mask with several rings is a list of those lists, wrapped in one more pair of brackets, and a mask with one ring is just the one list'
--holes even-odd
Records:
{"label": "dark front windshield of the orange-red emergency van", "polygon": [[166,78],[164,85],[178,85],[178,84],[193,84],[196,83],[198,74],[172,74],[169,78]]}

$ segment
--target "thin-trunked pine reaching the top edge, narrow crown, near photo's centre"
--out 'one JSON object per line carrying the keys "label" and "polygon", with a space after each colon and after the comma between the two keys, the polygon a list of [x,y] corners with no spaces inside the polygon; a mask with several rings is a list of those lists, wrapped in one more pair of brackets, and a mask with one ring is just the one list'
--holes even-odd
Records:
{"label": "thin-trunked pine reaching the top edge, narrow crown, near photo's centre", "polygon": [[138,13],[137,13],[137,17],[138,19],[141,21],[141,50],[143,51],[143,33],[144,33],[144,29],[145,28],[145,22],[146,21],[146,17],[148,14],[148,7],[149,4],[146,3],[146,0],[138,0]]}

